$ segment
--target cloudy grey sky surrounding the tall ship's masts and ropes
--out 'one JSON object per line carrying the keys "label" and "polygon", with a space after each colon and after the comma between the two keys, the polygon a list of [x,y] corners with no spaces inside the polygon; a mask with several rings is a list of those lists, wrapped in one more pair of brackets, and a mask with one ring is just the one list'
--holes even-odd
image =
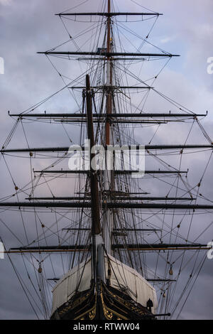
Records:
{"label": "cloudy grey sky surrounding the tall ship's masts and ropes", "polygon": [[[202,124],[207,129],[209,136],[213,138],[213,74],[209,75],[207,73],[207,59],[213,57],[212,0],[117,0],[114,2],[120,11],[138,11],[140,10],[140,7],[136,4],[138,3],[164,14],[158,18],[149,41],[170,53],[178,53],[181,57],[170,61],[168,67],[160,75],[159,80],[155,82],[155,87],[193,112],[204,114],[208,110],[209,117]],[[72,11],[97,11],[101,3],[102,1],[89,0],[85,1],[82,6],[73,9],[80,4],[80,1],[0,0],[0,57],[4,58],[4,75],[0,74],[0,140],[2,144],[14,122],[7,115],[9,110],[13,113],[23,112],[45,97],[60,90],[64,85],[48,59],[37,54],[38,51],[49,50],[68,39],[62,22],[54,14],[67,9],[72,9]],[[82,26],[84,26],[84,23],[82,23]],[[74,34],[77,33],[74,23],[70,23],[70,29],[73,29]],[[139,23],[136,23],[135,31],[142,36],[146,35],[143,28],[141,31]],[[68,47],[73,50],[72,44],[68,44]],[[64,71],[63,74],[68,73],[67,77],[71,79],[75,77],[79,69],[70,68],[68,63],[62,65],[61,68]],[[153,65],[153,69],[155,70],[155,65]],[[146,80],[148,70],[147,72],[145,70],[143,75],[143,80]],[[69,80],[66,82],[69,82]],[[157,98],[151,99],[149,105],[152,108],[163,108],[163,104],[161,105]],[[39,110],[43,111],[45,107]],[[70,103],[69,93],[62,92],[58,99],[54,97],[52,102],[47,104],[47,108],[51,111],[70,111],[71,109],[76,111],[77,104],[73,99]],[[33,146],[40,146],[44,142],[45,146],[65,144],[66,136],[63,134],[61,137],[57,127],[54,130],[54,139],[50,136],[50,130],[47,132],[42,124],[40,125],[39,136],[36,135],[38,129],[35,129],[35,126],[31,124],[30,129],[27,131],[31,140],[30,144],[33,144]],[[179,129],[178,135],[174,134],[175,126],[168,129],[167,136],[164,135],[164,131],[165,128],[158,133],[155,140],[161,142],[165,142],[165,140],[173,141],[175,143],[180,141],[180,136],[183,138],[186,136],[184,127]],[[75,141],[77,132],[75,131],[72,135],[72,139]],[[146,132],[143,135],[136,132],[136,136],[138,136],[138,141],[146,140],[143,138],[143,136],[146,136]],[[196,140],[197,143],[201,141],[207,144],[196,129],[192,139]],[[13,144],[11,146],[16,147],[21,147],[23,144],[26,146],[23,134],[16,137],[11,144]],[[205,166],[202,157],[195,158],[195,160],[187,158],[185,166],[188,165],[195,168],[197,178],[199,178]],[[26,166],[17,166],[15,163],[11,166],[13,175],[17,173],[23,179],[26,178],[23,173],[24,168]],[[4,172],[6,173],[6,169],[4,169]],[[8,172],[7,174],[1,172],[1,175],[4,175],[2,181],[4,190],[7,194],[11,193],[8,190],[12,186]],[[24,179],[23,183],[27,180],[27,178]],[[207,197],[212,195],[213,198],[211,180],[212,171],[209,169],[202,192]],[[4,193],[4,191],[1,191],[1,194]],[[205,217],[203,219],[205,220]],[[15,221],[14,218],[11,218],[12,220]],[[206,225],[210,221],[208,217],[205,221]],[[209,239],[206,239],[207,242],[212,239],[212,231],[208,232],[209,236],[206,237]],[[6,233],[4,228],[2,232],[0,229],[0,236],[9,238],[9,235],[4,235],[4,233]],[[18,257],[16,258],[16,265],[21,268],[21,260]],[[18,285],[18,280],[11,269],[9,260],[0,260],[0,266],[0,318],[35,318],[34,313],[29,308],[26,296]],[[213,260],[212,262],[207,260],[180,318],[213,318],[212,275]]]}

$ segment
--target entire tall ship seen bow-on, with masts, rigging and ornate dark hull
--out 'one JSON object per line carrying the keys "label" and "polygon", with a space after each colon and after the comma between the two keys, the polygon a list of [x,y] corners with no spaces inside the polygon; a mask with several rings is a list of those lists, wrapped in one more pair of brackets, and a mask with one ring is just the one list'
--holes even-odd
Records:
{"label": "entire tall ship seen bow-on, with masts, rigging and ornate dark hull", "polygon": [[[179,55],[149,41],[163,14],[141,3],[56,14],[69,39],[38,53],[62,89],[9,112],[1,164],[13,190],[1,196],[1,238],[37,318],[178,318],[211,249],[211,226],[200,222],[213,209],[200,190],[213,147],[207,112],[155,87]],[[191,184],[187,165],[202,153]]]}

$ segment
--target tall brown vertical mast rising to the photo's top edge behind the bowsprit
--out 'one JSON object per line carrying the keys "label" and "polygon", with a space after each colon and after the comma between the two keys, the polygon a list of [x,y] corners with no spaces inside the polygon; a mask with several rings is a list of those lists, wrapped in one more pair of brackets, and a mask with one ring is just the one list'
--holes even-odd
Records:
{"label": "tall brown vertical mast rising to the photo's top edge behind the bowsprit", "polygon": [[[111,12],[111,0],[108,0],[108,14]],[[112,86],[112,69],[111,69],[111,16],[107,16],[107,104],[106,114],[111,114],[111,86]],[[105,128],[105,146],[111,144],[111,124],[109,119],[106,122]],[[107,170],[107,156],[106,156],[106,168],[104,171],[104,190],[107,202],[110,200],[111,191],[111,171]],[[112,230],[111,211],[106,209],[103,216],[104,227],[104,244],[107,252],[111,252],[111,230]]]}

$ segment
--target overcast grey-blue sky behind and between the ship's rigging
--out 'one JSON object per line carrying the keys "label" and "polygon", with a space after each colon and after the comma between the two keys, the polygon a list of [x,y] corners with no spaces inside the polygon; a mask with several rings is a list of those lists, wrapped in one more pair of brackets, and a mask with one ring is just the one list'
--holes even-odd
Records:
{"label": "overcast grey-blue sky behind and between the ship's rigging", "polygon": [[[8,2],[5,6],[4,2]],[[96,10],[102,1],[88,1],[85,3],[81,10],[92,11]],[[168,68],[162,72],[158,80],[155,82],[156,89],[160,92],[165,92],[166,95],[172,97],[188,108],[195,112],[205,112],[209,109],[209,117],[204,121],[205,129],[207,129],[210,136],[212,134],[212,79],[213,75],[207,75],[206,72],[206,58],[213,56],[212,53],[212,1],[139,1],[138,3],[143,6],[159,12],[165,13],[165,16],[160,17],[157,22],[157,26],[151,33],[151,41],[157,45],[160,44],[160,40],[170,38],[168,43],[163,45],[168,51],[174,53],[182,53],[181,59],[171,60]],[[71,5],[70,5],[71,4]],[[68,39],[67,33],[62,26],[60,19],[53,14],[79,4],[79,1],[56,1],[56,0],[19,0],[19,1],[0,1],[0,41],[1,49],[0,56],[5,60],[5,74],[0,75],[0,97],[1,97],[1,111],[0,111],[0,129],[1,129],[1,143],[4,142],[7,134],[11,130],[13,121],[7,116],[7,111],[22,112],[29,106],[42,100],[43,98],[51,95],[56,90],[59,90],[64,84],[58,73],[55,72],[51,64],[45,58],[45,56],[37,55],[37,51],[48,50],[55,45],[60,44]],[[119,9],[125,8],[129,11],[138,10],[138,6],[131,1],[116,1]],[[78,11],[79,9],[75,9]],[[71,25],[72,26],[72,23]],[[82,24],[82,28],[84,23]],[[74,31],[75,33],[75,31]],[[82,40],[83,41],[83,40]],[[74,45],[69,44],[66,48],[74,48]],[[88,47],[88,45],[87,45]],[[162,44],[160,44],[162,47]],[[54,60],[59,65],[58,60]],[[61,66],[62,72],[68,73],[68,76],[75,77],[77,75],[77,68],[73,68],[69,62],[63,63]],[[153,71],[155,70],[155,65]],[[141,72],[141,77],[148,78],[148,71]],[[68,82],[68,80],[66,80]],[[39,108],[40,111],[45,109],[52,111],[76,111],[77,104],[74,99],[70,98],[68,92],[62,92],[57,97],[54,97],[53,102],[47,102]],[[160,111],[166,109],[168,111],[170,104],[161,102],[158,95],[154,93],[151,95],[151,99],[148,99],[146,104],[146,111],[154,111],[160,108]],[[33,146],[50,146],[50,144],[66,145],[67,136],[63,131],[62,126],[50,125],[50,124],[26,124],[24,128],[30,144]],[[77,136],[79,129],[75,127],[72,131],[69,126],[66,126],[70,137],[73,141],[77,142]],[[204,143],[206,142],[199,129],[195,126],[195,130],[192,131],[189,140],[191,142]],[[39,136],[38,136],[39,131]],[[155,128],[146,129],[143,128],[135,131],[136,139],[138,142],[147,143],[153,136]],[[185,126],[176,124],[160,126],[159,131],[153,139],[153,144],[168,143],[168,142],[182,142],[187,136],[187,129]],[[70,144],[70,143],[69,143]],[[16,132],[16,136],[12,139],[10,146],[26,146],[26,140],[24,138],[23,130],[19,127]],[[200,180],[202,171],[209,157],[209,153],[202,153],[200,156],[189,155],[185,157],[182,168],[190,168],[188,181],[192,185],[196,185]],[[29,181],[28,173],[30,166],[26,163],[26,159],[6,158],[9,162],[13,176],[16,180],[27,183]],[[14,162],[15,161],[15,162]],[[168,163],[173,161],[168,157]],[[175,161],[175,165],[178,166],[179,160]],[[50,163],[48,161],[47,163]],[[147,163],[151,163],[148,162]],[[40,160],[33,161],[35,168],[44,168],[44,163]],[[156,166],[160,168],[160,165],[156,163]],[[3,169],[5,180],[2,181],[3,190],[1,195],[6,193],[12,193],[14,191],[13,184],[9,178],[9,172],[6,168]],[[55,194],[62,194],[64,190],[71,194],[72,189],[69,189],[65,184],[66,180],[60,185],[55,184]],[[157,181],[153,186],[151,180],[144,178],[141,182],[141,187],[149,189],[153,194],[163,195],[166,190],[169,190],[170,186],[165,185],[160,181]],[[73,187],[74,188],[74,187]],[[46,188],[40,188],[43,194],[48,194]],[[197,189],[195,190],[195,192]],[[212,162],[209,164],[206,176],[200,188],[200,193],[207,198],[213,198],[212,192]],[[21,195],[23,198],[26,194]],[[45,215],[42,216],[45,221]],[[17,212],[13,212],[7,215],[7,212],[1,214],[2,220],[9,220],[8,227],[10,227],[14,233],[26,242],[22,233],[23,226],[21,217]],[[24,213],[24,219],[28,222],[31,219],[31,215]],[[49,227],[54,217],[49,217],[46,222]],[[167,217],[169,223],[170,217]],[[34,220],[33,220],[34,222]],[[188,227],[189,220],[185,220],[186,227],[181,227],[181,234],[184,235],[186,228]],[[199,235],[200,230],[211,222],[209,215],[198,215],[195,219],[195,235],[190,235],[192,239]],[[155,224],[159,222],[155,221]],[[178,224],[175,220],[175,224]],[[203,224],[200,226],[200,224]],[[62,226],[67,225],[67,220],[62,220]],[[28,237],[32,241],[35,237],[35,227],[28,225],[27,227]],[[39,232],[42,232],[42,228],[39,226]],[[1,232],[6,241],[6,244],[10,246],[16,246],[18,241],[11,238],[9,230],[5,226],[1,225]],[[201,240],[210,241],[212,239],[212,229],[202,236]],[[55,241],[54,237],[52,239]],[[55,257],[56,259],[56,257]],[[151,262],[152,263],[152,262]],[[23,268],[23,263],[18,260],[16,256],[17,268],[20,271]],[[35,318],[35,314],[31,311],[31,308],[24,296],[21,287],[18,284],[16,276],[11,269],[11,264],[8,260],[0,260],[0,266],[4,275],[0,276],[1,281],[1,308],[0,317],[2,319],[11,318]],[[29,266],[29,268],[31,268]],[[29,269],[29,270],[32,270]],[[163,266],[162,266],[163,270]],[[58,274],[62,274],[60,265],[57,264]],[[26,284],[28,278],[24,276]],[[186,279],[186,276],[185,276]],[[185,308],[182,311],[181,317],[186,318],[212,318],[212,262],[208,260],[204,264],[204,268],[197,279],[197,283],[192,290],[189,300],[187,301]],[[4,288],[3,288],[4,287]],[[21,306],[17,309],[17,304]]]}

